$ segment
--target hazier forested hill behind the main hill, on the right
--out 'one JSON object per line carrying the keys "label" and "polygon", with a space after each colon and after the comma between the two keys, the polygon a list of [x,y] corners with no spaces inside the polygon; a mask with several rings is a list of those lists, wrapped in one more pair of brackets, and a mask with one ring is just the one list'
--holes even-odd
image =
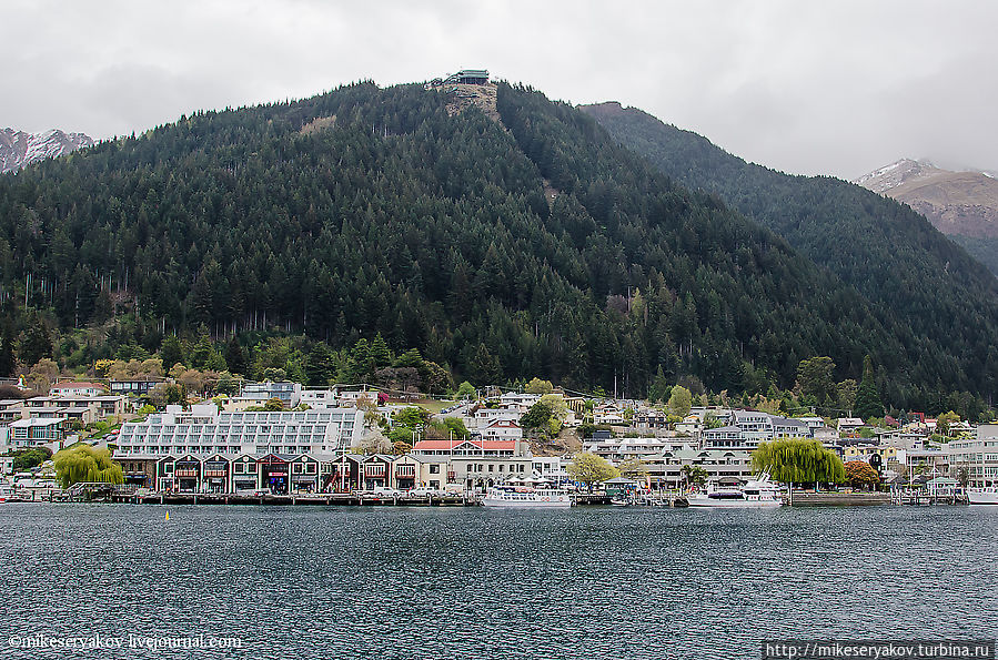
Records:
{"label": "hazier forested hill behind the main hill, on the right", "polygon": [[838,179],[746,163],[616,102],[582,110],[674,181],[717,194],[831,270],[881,321],[910,328],[913,353],[923,356],[911,364],[915,382],[995,392],[998,282],[909,206]]}

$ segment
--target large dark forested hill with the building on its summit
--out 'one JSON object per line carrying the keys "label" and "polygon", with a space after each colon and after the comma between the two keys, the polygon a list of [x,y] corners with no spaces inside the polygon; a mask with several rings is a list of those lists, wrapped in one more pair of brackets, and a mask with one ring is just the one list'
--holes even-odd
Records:
{"label": "large dark forested hill with the building on its summit", "polygon": [[0,176],[7,326],[37,312],[125,341],[112,316],[134,315],[149,351],[201,324],[333,347],[380,333],[478,384],[541,375],[635,396],[659,367],[764,392],[803,358],[830,355],[844,378],[870,354],[895,405],[980,390],[977,349],[996,337],[968,315],[990,308],[960,307],[980,286],[948,290],[954,316],[931,316],[949,336],[913,335],[583,112],[506,84],[501,123],[446,102],[357,83]]}

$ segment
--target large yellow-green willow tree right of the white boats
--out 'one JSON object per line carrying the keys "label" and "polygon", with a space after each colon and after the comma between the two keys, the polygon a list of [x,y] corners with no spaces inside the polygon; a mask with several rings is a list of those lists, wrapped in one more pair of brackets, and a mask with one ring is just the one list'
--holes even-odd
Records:
{"label": "large yellow-green willow tree right of the white boats", "polygon": [[752,467],[784,484],[841,484],[846,469],[835,451],[819,440],[778,438],[759,443],[752,453]]}

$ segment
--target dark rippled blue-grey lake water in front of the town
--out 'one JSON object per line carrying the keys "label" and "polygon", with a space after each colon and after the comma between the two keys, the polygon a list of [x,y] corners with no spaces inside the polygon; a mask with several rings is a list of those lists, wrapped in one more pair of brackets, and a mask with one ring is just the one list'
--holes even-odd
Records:
{"label": "dark rippled blue-grey lake water in front of the town", "polygon": [[[765,638],[995,638],[996,530],[998,507],[8,504],[0,658],[757,659]],[[10,646],[39,633],[242,647]]]}

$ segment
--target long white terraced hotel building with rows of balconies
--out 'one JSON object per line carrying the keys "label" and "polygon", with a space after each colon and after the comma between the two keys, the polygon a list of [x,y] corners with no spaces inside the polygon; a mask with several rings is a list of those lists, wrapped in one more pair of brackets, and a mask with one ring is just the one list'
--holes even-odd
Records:
{"label": "long white terraced hotel building with rows of balconies", "polygon": [[185,412],[167,406],[141,423],[122,425],[118,455],[330,454],[360,443],[357,408],[282,413],[219,413],[214,405]]}

